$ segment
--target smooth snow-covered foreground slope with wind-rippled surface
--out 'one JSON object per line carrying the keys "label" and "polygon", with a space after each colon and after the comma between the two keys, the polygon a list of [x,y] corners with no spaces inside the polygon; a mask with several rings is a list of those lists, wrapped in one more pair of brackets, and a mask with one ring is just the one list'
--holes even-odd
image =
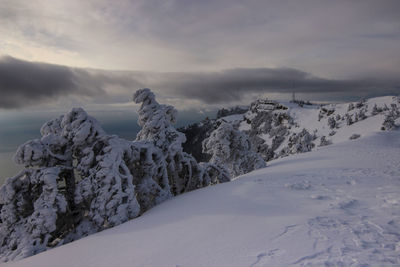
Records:
{"label": "smooth snow-covered foreground slope with wind-rippled surface", "polygon": [[120,226],[5,264],[289,265],[400,265],[399,131],[273,160]]}

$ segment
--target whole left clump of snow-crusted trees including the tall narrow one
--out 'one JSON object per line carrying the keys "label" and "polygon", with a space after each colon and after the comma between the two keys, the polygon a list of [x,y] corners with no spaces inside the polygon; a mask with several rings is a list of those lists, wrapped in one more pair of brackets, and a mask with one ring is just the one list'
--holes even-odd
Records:
{"label": "whole left clump of snow-crusted trees including the tall narrow one", "polygon": [[83,109],[46,122],[14,157],[25,169],[0,188],[0,260],[34,255],[135,218],[166,199],[230,180],[183,152],[176,110],[149,89],[136,141],[107,135]]}

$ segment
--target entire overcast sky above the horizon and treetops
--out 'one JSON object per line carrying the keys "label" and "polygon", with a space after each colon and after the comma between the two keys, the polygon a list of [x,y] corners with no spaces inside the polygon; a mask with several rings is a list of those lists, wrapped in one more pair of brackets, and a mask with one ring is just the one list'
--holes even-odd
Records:
{"label": "entire overcast sky above the horizon and treetops", "polygon": [[0,108],[400,93],[398,0],[1,0]]}

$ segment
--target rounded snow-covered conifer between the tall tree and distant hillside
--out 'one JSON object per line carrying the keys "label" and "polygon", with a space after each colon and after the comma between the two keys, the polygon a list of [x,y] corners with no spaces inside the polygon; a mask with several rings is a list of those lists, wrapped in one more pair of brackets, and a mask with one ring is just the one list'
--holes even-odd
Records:
{"label": "rounded snow-covered conifer between the tall tree and distant hillside", "polygon": [[203,141],[203,152],[211,155],[211,163],[226,166],[232,177],[266,166],[262,157],[251,149],[246,134],[223,121]]}

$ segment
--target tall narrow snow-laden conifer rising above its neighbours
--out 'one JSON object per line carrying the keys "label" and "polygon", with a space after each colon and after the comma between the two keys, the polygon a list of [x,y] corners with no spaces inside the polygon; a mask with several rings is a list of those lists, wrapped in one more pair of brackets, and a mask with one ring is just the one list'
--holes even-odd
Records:
{"label": "tall narrow snow-laden conifer rising above its neighbours", "polygon": [[173,127],[177,115],[174,107],[159,104],[148,88],[136,91],[133,100],[141,103],[138,124],[142,129],[136,141],[152,142],[162,151],[172,194],[230,180],[222,167],[212,163],[198,164],[192,155],[183,152],[186,137]]}

